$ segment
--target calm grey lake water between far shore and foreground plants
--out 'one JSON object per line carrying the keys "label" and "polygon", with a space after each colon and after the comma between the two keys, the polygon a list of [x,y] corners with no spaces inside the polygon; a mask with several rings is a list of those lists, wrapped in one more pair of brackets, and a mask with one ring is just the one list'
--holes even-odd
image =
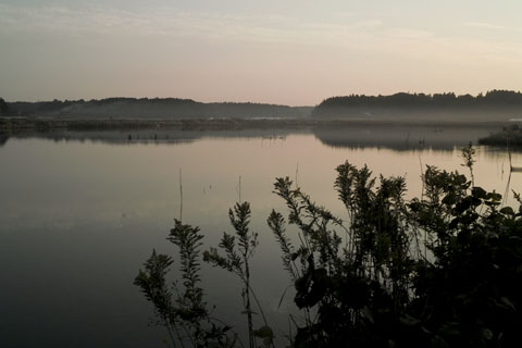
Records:
{"label": "calm grey lake water between far shore and foreground plants", "polygon": [[[239,192],[251,202],[260,234],[253,286],[271,322],[286,327],[291,299],[277,303],[288,277],[265,227],[272,208],[284,211],[272,194],[276,176],[297,177],[344,217],[333,188],[336,165],[348,160],[375,174],[406,175],[408,195],[418,196],[421,165],[467,173],[458,146],[484,132],[442,144],[447,132],[408,132],[395,140],[384,132],[370,134],[370,142],[363,132],[344,138],[326,130],[161,134],[158,142],[126,142],[123,134],[90,136],[96,141],[10,138],[0,147],[0,346],[164,347],[164,332],[149,325],[151,307],[133,279],[153,248],[175,251],[165,237],[179,216],[179,169],[183,221],[199,225],[208,246],[231,231],[227,210]],[[522,165],[522,156],[512,161]],[[508,167],[506,152],[477,148],[480,186],[504,194]],[[521,178],[513,174],[510,187],[522,191]],[[216,316],[244,330],[237,282],[207,266],[203,277]]]}

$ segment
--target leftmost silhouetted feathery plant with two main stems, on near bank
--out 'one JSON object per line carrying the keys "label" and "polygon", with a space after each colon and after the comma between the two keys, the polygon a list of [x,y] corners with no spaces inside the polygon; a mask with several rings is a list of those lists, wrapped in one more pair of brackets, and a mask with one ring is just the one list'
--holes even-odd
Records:
{"label": "leftmost silhouetted feathery plant with two main stems, on near bank", "polygon": [[234,347],[236,336],[228,335],[231,327],[212,320],[203,301],[203,290],[199,286],[202,238],[198,227],[175,220],[167,239],[179,249],[182,289],[176,283],[170,287],[165,279],[173,259],[157,254],[156,250],[146,261],[145,271],[139,271],[134,284],[153,303],[160,324],[166,327],[174,347],[185,347],[186,343],[191,347]]}

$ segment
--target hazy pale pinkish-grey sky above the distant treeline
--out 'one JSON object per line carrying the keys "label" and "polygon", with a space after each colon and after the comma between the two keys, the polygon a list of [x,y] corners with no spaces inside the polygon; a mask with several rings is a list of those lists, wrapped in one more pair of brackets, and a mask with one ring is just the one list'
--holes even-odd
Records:
{"label": "hazy pale pinkish-grey sky above the distant treeline", "polygon": [[0,0],[0,97],[522,89],[520,0]]}

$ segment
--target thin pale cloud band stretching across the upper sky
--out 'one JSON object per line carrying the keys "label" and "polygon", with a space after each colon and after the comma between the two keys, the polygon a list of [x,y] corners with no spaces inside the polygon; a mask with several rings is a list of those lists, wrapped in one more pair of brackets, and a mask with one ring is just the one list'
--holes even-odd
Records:
{"label": "thin pale cloud band stretching across the upper sky", "polygon": [[[467,22],[465,26],[502,29],[488,23]],[[2,35],[26,33],[38,37],[92,35],[114,39],[176,38],[243,45],[269,45],[340,53],[368,53],[375,59],[388,55],[408,59],[458,61],[470,52],[485,59],[522,59],[522,47],[487,38],[451,37],[418,27],[391,27],[380,18],[356,13],[332,14],[321,21],[291,15],[247,15],[154,8],[141,11],[87,7],[23,7],[0,4]],[[511,44],[511,45],[509,45]]]}

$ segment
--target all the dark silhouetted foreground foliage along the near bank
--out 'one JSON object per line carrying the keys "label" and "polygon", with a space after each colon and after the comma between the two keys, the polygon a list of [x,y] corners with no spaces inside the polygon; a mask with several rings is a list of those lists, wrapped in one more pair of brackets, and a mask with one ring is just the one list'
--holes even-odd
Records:
{"label": "all the dark silhouetted foreground foliage along the near bank", "polygon": [[[474,149],[464,148],[462,158],[473,174]],[[274,184],[287,215],[272,211],[268,225],[303,316],[300,324],[294,321],[291,347],[520,346],[522,208],[501,207],[499,194],[434,166],[422,175],[422,196],[409,201],[403,177],[377,179],[366,166],[348,162],[337,173],[346,221],[315,204],[288,177]],[[204,258],[244,282],[250,347],[258,346],[254,337],[274,345],[270,326],[253,330],[252,324],[248,261],[257,234],[248,228],[249,216],[248,203],[236,204],[229,212],[236,233],[225,233],[220,244],[225,254],[210,249]],[[199,330],[210,334],[197,323],[208,318],[197,275],[201,236],[178,222],[175,229],[171,240],[182,251],[185,293],[171,300],[164,276],[172,260],[156,252],[136,284],[163,324],[187,325],[195,343],[202,343],[207,336]],[[296,229],[298,238],[290,238]],[[233,344],[225,328],[213,326],[212,343]]]}

